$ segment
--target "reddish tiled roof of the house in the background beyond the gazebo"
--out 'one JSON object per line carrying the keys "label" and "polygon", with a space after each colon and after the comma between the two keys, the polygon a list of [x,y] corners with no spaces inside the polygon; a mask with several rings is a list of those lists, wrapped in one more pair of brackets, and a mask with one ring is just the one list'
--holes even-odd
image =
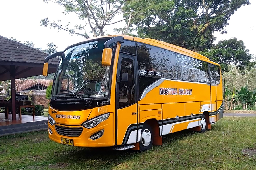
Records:
{"label": "reddish tiled roof of the house in the background beyond the gazebo", "polygon": [[38,83],[48,87],[50,85],[50,83],[52,83],[52,82],[53,82],[53,80],[45,80],[45,79],[37,79],[37,80],[33,80],[33,79],[27,79],[27,80],[16,79],[16,91],[20,92],[22,90],[30,88],[31,86],[34,86],[35,84],[38,84]]}

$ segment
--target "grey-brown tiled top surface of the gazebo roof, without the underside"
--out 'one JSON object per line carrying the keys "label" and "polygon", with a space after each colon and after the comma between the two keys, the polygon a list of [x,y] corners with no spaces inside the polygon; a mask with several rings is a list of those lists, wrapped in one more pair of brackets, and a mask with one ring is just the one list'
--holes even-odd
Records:
{"label": "grey-brown tiled top surface of the gazebo roof, without the underside", "polygon": [[[48,55],[35,48],[0,36],[0,62],[13,61],[44,64],[44,58]],[[59,59],[54,58],[51,63],[58,64],[58,61]]]}

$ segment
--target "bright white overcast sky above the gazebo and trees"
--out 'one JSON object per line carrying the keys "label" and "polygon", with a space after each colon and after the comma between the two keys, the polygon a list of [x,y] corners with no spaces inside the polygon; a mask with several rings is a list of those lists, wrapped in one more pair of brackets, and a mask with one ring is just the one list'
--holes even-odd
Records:
{"label": "bright white overcast sky above the gazebo and trees", "polygon": [[[254,22],[256,1],[250,0],[250,2],[250,5],[242,6],[230,17],[229,25],[225,28],[227,34],[214,32],[214,36],[217,38],[214,44],[223,39],[236,37],[238,40],[244,41],[250,54],[256,55],[256,22]],[[44,18],[54,21],[60,19],[62,25],[66,25],[67,22],[74,25],[84,22],[79,20],[75,14],[67,14],[66,16],[62,14],[64,9],[58,4],[44,3],[43,0],[2,0],[0,7],[1,36],[13,37],[21,42],[32,41],[35,47],[42,48],[47,48],[47,44],[53,42],[57,45],[57,50],[64,50],[71,44],[85,40],[77,35],[69,35],[66,31],[57,31],[57,29],[40,26],[40,20]],[[105,31],[114,34],[113,28],[123,27],[123,25],[125,25],[124,21],[106,26]],[[90,28],[88,27],[86,33],[89,32]]]}

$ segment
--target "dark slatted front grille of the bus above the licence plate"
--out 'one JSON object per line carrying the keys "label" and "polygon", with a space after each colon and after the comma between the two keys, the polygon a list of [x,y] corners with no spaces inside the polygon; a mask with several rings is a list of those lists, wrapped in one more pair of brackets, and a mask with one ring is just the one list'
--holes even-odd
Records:
{"label": "dark slatted front grille of the bus above the licence plate", "polygon": [[55,129],[58,134],[63,136],[70,136],[70,137],[78,137],[81,135],[83,131],[82,127],[69,128],[69,127],[58,126],[58,125],[55,125]]}

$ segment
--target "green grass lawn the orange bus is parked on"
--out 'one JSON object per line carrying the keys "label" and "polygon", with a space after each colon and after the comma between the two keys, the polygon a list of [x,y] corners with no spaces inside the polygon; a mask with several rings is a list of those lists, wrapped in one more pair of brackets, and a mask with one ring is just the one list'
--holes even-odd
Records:
{"label": "green grass lawn the orange bus is parked on", "polygon": [[163,137],[147,152],[55,143],[47,131],[0,137],[0,169],[256,169],[256,117],[224,117],[205,133]]}

